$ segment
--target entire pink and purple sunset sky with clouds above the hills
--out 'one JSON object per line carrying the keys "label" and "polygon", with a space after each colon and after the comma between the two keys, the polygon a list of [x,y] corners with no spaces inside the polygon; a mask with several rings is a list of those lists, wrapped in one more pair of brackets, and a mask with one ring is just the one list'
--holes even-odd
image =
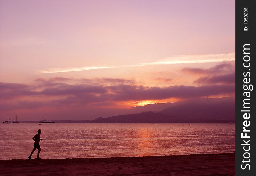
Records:
{"label": "entire pink and purple sunset sky with clouds above the hills", "polygon": [[0,0],[0,120],[235,96],[235,1]]}

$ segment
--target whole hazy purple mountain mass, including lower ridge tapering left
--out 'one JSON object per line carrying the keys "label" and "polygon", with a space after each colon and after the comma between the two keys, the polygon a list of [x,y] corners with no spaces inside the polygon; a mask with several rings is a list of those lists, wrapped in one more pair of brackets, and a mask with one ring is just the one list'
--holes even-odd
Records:
{"label": "whole hazy purple mountain mass, including lower ridge tapering left", "polygon": [[235,97],[190,99],[160,112],[97,118],[90,123],[235,123]]}

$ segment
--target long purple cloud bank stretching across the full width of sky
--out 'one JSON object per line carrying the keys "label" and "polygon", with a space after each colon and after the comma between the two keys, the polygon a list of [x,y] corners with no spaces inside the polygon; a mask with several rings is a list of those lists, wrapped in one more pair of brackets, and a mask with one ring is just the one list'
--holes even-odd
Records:
{"label": "long purple cloud bank stretching across the full width of sky", "polygon": [[[232,79],[231,79],[232,78]],[[143,101],[168,98],[199,98],[215,95],[234,95],[234,84],[214,85],[213,83],[230,83],[235,73],[207,77],[197,80],[207,82],[203,86],[169,86],[149,87],[134,84],[89,85],[67,84],[37,80],[36,85],[0,82],[1,109],[34,109],[40,107],[81,107],[94,104],[113,105],[119,101]],[[122,82],[122,80],[117,80]],[[81,81],[82,82],[82,81]]]}

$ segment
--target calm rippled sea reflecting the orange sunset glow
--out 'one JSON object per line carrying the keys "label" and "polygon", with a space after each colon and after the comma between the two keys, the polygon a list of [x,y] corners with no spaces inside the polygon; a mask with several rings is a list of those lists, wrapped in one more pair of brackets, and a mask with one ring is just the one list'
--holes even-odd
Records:
{"label": "calm rippled sea reflecting the orange sunset glow", "polygon": [[[98,158],[235,150],[235,124],[0,124],[0,159],[27,159],[41,129],[43,159]],[[32,158],[36,157],[36,152]]]}

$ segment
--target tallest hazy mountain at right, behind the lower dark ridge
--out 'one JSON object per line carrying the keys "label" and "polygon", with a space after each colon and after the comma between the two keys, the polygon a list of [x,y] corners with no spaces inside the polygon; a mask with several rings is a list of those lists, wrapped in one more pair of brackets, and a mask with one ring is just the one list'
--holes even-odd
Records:
{"label": "tallest hazy mountain at right, behind the lower dark ridge", "polygon": [[235,122],[235,97],[179,101],[176,106],[164,109],[160,113],[179,116],[191,122]]}

